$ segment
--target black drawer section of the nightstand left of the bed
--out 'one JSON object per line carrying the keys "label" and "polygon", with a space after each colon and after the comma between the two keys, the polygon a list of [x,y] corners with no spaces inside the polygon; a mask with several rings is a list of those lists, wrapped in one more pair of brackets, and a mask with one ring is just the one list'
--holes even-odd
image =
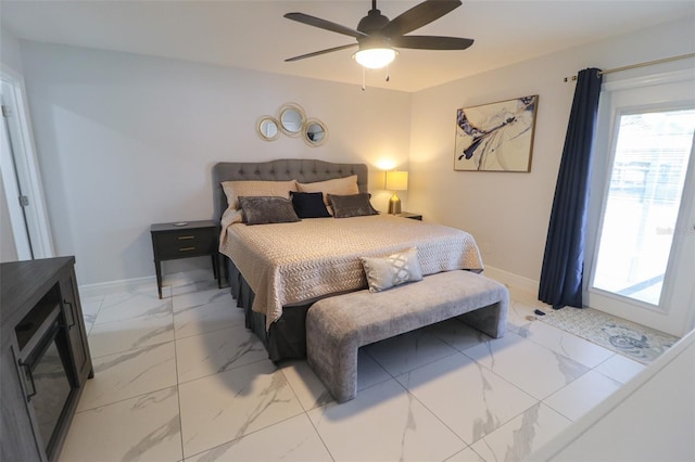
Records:
{"label": "black drawer section of the nightstand left of the bed", "polygon": [[185,258],[210,255],[217,251],[216,230],[192,229],[161,232],[152,236],[154,258]]}

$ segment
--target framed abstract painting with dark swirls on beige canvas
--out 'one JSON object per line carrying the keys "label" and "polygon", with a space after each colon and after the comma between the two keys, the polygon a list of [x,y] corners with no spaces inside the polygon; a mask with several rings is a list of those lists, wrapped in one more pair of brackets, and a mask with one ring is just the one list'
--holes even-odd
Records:
{"label": "framed abstract painting with dark swirls on beige canvas", "polygon": [[454,170],[531,171],[538,94],[456,112]]}

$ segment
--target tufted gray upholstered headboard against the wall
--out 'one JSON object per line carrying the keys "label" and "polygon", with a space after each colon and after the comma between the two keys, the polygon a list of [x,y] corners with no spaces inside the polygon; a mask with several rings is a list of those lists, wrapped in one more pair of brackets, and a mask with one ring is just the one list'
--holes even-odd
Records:
{"label": "tufted gray upholstered headboard against the wall", "polygon": [[368,169],[366,164],[333,164],[331,162],[282,158],[269,162],[219,162],[213,166],[214,220],[219,221],[227,209],[227,196],[223,181],[296,180],[301,183],[357,176],[359,192],[367,192]]}

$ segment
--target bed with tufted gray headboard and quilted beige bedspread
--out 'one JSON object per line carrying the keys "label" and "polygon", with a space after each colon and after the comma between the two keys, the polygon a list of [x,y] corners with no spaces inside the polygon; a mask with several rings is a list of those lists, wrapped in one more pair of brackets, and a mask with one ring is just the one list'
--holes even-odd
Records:
{"label": "bed with tufted gray headboard and quilted beige bedspread", "polygon": [[236,208],[229,207],[228,196],[237,203],[223,188],[230,181],[296,181],[311,187],[349,179],[356,183],[355,192],[367,192],[364,164],[279,159],[213,167],[215,219],[222,222],[219,251],[231,295],[244,310],[247,328],[263,341],[273,361],[306,357],[304,322],[313,303],[367,287],[361,257],[416,247],[425,275],[482,270],[470,234],[401,217],[324,217],[258,226],[228,219]]}

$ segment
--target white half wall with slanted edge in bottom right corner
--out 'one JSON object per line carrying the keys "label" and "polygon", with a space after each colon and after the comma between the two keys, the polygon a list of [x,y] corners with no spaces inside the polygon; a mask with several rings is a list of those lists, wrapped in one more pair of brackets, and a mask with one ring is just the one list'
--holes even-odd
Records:
{"label": "white half wall with slanted edge in bottom right corner", "polygon": [[695,331],[540,448],[531,461],[695,460]]}

